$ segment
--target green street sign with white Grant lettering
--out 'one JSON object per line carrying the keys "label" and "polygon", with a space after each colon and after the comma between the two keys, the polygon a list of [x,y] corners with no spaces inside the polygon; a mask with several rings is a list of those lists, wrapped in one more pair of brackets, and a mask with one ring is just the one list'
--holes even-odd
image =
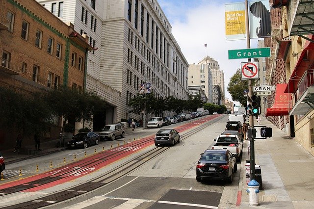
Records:
{"label": "green street sign with white Grant lettering", "polygon": [[270,47],[243,50],[228,50],[228,56],[229,59],[270,57]]}

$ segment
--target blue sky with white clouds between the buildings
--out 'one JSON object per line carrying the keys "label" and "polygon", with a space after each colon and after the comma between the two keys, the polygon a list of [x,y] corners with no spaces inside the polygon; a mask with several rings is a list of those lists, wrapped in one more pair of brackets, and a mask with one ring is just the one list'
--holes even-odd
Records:
{"label": "blue sky with white clouds between the buildings", "polygon": [[[247,62],[247,59],[228,59],[228,50],[247,49],[246,39],[225,40],[225,3],[232,2],[244,0],[158,0],[187,62],[197,64],[205,56],[218,62],[224,71],[225,97],[229,100],[230,78],[241,62]],[[251,48],[257,48],[257,43],[258,39],[251,39]]]}

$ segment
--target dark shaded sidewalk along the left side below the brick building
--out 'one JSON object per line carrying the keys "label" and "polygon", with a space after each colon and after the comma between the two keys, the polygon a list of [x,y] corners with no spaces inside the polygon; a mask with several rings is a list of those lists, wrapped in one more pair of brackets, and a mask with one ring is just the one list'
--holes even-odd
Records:
{"label": "dark shaded sidewalk along the left side below the brick building", "polygon": [[[127,133],[140,131],[140,130],[143,130],[143,128],[136,128],[134,131],[132,131],[132,128],[126,128],[125,133],[127,134]],[[34,157],[49,155],[49,154],[67,149],[66,147],[57,147],[56,145],[59,142],[60,142],[59,139],[55,139],[55,140],[42,139],[40,142],[40,151],[35,151],[35,144],[34,144],[33,149],[31,151],[32,152],[31,155],[19,154],[17,152],[15,153],[13,148],[10,150],[3,150],[0,152],[2,156],[5,157],[5,163],[10,164],[10,163],[22,161],[24,159],[30,159]]]}

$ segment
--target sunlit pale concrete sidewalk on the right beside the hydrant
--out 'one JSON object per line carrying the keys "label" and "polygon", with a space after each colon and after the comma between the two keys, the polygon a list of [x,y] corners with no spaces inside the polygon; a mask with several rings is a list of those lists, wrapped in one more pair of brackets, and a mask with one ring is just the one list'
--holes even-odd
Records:
{"label": "sunlit pale concrete sidewalk on the right beside the hydrant", "polygon": [[[261,119],[261,125],[272,128],[273,136],[255,140],[255,162],[261,165],[262,173],[263,190],[258,193],[260,205],[250,206],[246,192],[245,159],[249,159],[246,141],[239,183],[240,208],[314,208],[314,157],[294,138],[266,118]],[[256,119],[254,124],[257,125]]]}

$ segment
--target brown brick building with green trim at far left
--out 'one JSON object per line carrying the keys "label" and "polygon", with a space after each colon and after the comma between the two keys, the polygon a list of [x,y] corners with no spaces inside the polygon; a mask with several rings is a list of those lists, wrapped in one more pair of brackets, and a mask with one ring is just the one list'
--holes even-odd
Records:
{"label": "brown brick building with green trim at far left", "polygon": [[[88,37],[34,0],[1,0],[0,7],[0,85],[25,95],[61,84],[82,91],[85,57],[93,50]],[[60,125],[47,135],[57,138]]]}

